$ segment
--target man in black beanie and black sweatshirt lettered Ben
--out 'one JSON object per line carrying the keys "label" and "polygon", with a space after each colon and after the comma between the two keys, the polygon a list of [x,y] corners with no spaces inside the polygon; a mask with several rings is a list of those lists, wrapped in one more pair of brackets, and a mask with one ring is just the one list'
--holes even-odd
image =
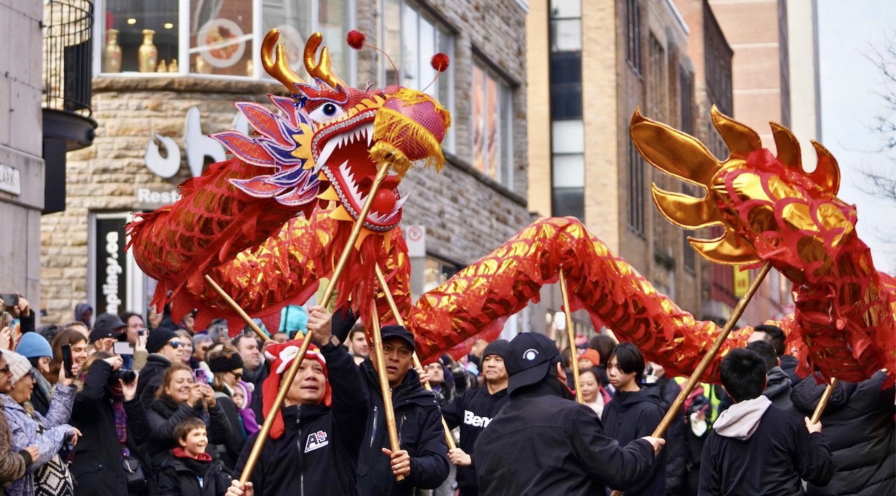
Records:
{"label": "man in black beanie and black sweatshirt lettered Ben", "polygon": [[442,409],[448,427],[461,427],[459,447],[448,452],[448,458],[457,466],[457,485],[461,496],[478,494],[473,447],[479,432],[507,404],[507,369],[504,367],[507,345],[506,339],[496,339],[482,352],[482,369],[486,378],[484,388],[469,389]]}

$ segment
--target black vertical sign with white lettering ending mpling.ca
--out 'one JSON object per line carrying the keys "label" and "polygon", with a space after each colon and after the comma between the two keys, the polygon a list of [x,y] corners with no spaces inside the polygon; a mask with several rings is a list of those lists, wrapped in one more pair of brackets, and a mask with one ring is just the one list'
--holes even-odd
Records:
{"label": "black vertical sign with white lettering ending mpling.ca", "polygon": [[125,223],[127,218],[96,219],[97,314],[123,310],[127,293],[127,264],[125,263]]}

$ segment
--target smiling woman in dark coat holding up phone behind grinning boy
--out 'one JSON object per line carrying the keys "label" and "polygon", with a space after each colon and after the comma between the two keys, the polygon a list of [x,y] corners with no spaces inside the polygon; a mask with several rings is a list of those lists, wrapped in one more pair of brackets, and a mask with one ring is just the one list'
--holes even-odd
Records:
{"label": "smiling woman in dark coat holding up phone behind grinning boy", "polygon": [[193,370],[181,363],[172,364],[165,372],[147,416],[150,440],[145,448],[154,468],[164,462],[168,450],[178,446],[174,428],[186,417],[194,416],[205,423],[209,446],[224,444],[233,437],[230,422],[214,391],[208,384],[196,384]]}

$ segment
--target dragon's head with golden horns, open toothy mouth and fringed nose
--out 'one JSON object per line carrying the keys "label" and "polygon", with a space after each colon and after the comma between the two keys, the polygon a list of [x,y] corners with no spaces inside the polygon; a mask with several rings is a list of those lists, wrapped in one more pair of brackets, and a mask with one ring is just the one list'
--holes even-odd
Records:
{"label": "dragon's head with golden horns, open toothy mouth and fringed nose", "polygon": [[248,102],[237,103],[260,134],[248,137],[227,132],[214,135],[237,157],[273,167],[271,175],[233,180],[240,190],[281,203],[297,205],[306,215],[322,201],[335,201],[331,216],[355,221],[370,196],[380,167],[391,167],[375,192],[364,219],[369,232],[398,226],[399,184],[411,163],[442,167],[441,141],[451,118],[435,99],[417,91],[390,86],[358,90],[332,73],[330,54],[321,33],[308,38],[305,65],[314,81],[306,83],[289,67],[286,49],[271,30],[262,45],[262,62],[282,82],[289,97],[271,96],[280,114]]}

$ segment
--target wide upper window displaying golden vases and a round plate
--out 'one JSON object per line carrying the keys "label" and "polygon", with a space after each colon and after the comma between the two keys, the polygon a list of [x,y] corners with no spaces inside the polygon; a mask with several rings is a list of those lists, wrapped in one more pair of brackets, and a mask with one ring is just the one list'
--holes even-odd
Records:
{"label": "wide upper window displaying golden vases and a round plate", "polygon": [[[300,77],[307,77],[302,55],[315,30],[323,31],[330,47],[333,72],[345,78],[354,73],[352,50],[344,42],[354,0],[108,0],[99,5],[97,29],[103,36],[98,38],[104,41],[96,60],[103,75],[267,77],[259,48],[273,28],[280,30],[280,43]],[[150,45],[154,64],[146,64]]]}

